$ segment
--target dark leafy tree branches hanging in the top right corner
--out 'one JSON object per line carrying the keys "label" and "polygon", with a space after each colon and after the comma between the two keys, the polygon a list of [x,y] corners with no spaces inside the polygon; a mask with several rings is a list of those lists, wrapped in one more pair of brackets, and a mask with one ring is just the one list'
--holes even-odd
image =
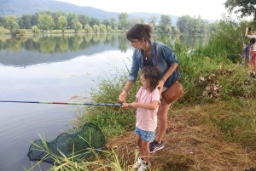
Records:
{"label": "dark leafy tree branches hanging in the top right corner", "polygon": [[241,18],[253,15],[253,20],[256,20],[255,0],[227,0],[224,6],[230,12],[241,13]]}

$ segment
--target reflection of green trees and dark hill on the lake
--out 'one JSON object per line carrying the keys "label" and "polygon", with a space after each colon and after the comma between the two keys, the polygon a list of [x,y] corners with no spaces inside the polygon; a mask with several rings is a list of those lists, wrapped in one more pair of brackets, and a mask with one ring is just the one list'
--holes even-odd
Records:
{"label": "reflection of green trees and dark hill on the lake", "polygon": [[[158,37],[158,35],[154,35]],[[187,47],[198,47],[208,42],[206,36],[167,35],[173,43],[180,40]],[[30,37],[0,36],[0,64],[3,66],[30,66],[71,60],[80,55],[131,49],[125,34],[52,34]]]}

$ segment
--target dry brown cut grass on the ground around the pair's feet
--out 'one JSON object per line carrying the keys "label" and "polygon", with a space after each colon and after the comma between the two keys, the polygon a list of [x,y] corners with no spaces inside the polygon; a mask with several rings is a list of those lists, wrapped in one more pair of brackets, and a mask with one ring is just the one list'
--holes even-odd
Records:
{"label": "dry brown cut grass on the ground around the pair's feet", "polygon": [[[191,115],[197,110],[200,112],[190,108],[172,111],[178,114],[168,117],[165,147],[151,155],[151,170],[256,171],[256,151],[226,142],[215,128],[193,123]],[[138,153],[134,131],[108,140],[106,148],[113,149],[119,155],[119,162],[132,170]]]}

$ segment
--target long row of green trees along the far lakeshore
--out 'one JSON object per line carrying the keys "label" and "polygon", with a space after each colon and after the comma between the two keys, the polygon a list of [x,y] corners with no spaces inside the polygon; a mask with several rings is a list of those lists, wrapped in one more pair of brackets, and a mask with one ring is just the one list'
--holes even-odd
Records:
{"label": "long row of green trees along the far lakeshore", "polygon": [[217,23],[208,23],[202,20],[200,16],[192,18],[189,15],[183,15],[177,18],[177,26],[172,26],[170,15],[162,14],[160,21],[155,15],[152,15],[148,21],[143,18],[129,19],[129,14],[120,13],[118,20],[115,18],[99,20],[86,14],[68,13],[62,11],[44,10],[36,14],[23,14],[20,17],[15,15],[0,16],[0,32],[4,29],[10,31],[32,29],[33,33],[40,31],[73,29],[75,32],[83,31],[85,33],[106,33],[117,30],[127,30],[136,23],[148,23],[154,29],[154,32],[163,33],[186,33],[186,34],[207,34],[216,31]]}

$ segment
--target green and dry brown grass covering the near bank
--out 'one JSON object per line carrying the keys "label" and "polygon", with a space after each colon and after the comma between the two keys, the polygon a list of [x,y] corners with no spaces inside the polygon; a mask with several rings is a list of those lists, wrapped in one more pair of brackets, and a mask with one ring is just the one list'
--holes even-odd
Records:
{"label": "green and dry brown grass covering the near bank", "polygon": [[[234,26],[231,21],[220,22],[220,31],[223,28]],[[236,28],[233,31],[239,33]],[[207,46],[195,50],[178,41],[172,44],[165,37],[156,39],[171,46],[177,54],[182,74],[179,82],[185,94],[172,104],[164,137],[166,145],[164,150],[152,154],[152,170],[255,170],[256,82],[251,68],[240,66],[238,56],[225,54],[230,47],[218,47],[230,43],[229,35],[221,31],[212,35]],[[236,42],[231,48],[239,47]],[[217,50],[218,55],[209,55]],[[101,77],[97,88],[92,88],[84,99],[118,103],[128,72],[105,71],[108,75]],[[126,101],[134,100],[139,86],[137,82],[131,88]],[[86,106],[78,112],[73,130],[79,130],[84,123],[95,123],[105,135],[107,145],[89,160],[71,162],[63,157],[65,166],[49,170],[73,170],[75,166],[77,170],[133,170],[138,156],[134,134],[136,111]]]}

